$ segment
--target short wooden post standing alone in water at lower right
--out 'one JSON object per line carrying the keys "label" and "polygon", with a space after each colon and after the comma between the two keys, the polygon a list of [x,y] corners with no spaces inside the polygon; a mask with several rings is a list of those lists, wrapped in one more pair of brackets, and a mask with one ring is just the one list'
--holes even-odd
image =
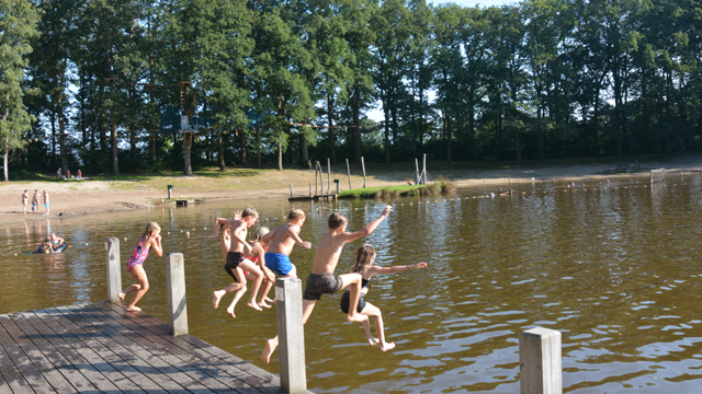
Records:
{"label": "short wooden post standing alone in water at lower right", "polygon": [[562,394],[561,333],[536,327],[519,334],[521,394]]}

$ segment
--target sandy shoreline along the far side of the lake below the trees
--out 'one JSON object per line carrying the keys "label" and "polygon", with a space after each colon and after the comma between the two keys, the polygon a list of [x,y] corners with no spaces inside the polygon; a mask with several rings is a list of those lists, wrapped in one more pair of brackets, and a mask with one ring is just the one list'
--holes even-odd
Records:
{"label": "sandy shoreline along the far side of the lake below the trees", "polygon": [[[584,178],[605,179],[648,176],[647,172],[631,174],[602,174],[601,172],[604,167],[607,166],[603,164],[581,164],[568,166],[544,166],[537,169],[516,167],[486,171],[455,170],[444,175],[449,177],[456,187],[503,185],[508,183],[569,182]],[[683,171],[688,173],[700,172],[702,170],[702,157],[686,157],[667,162],[646,163],[645,167],[666,167],[669,169],[668,171]],[[341,175],[346,177],[346,169],[344,174],[332,172],[332,175],[335,177],[341,177]],[[387,178],[385,174],[383,174],[383,178],[381,176],[369,176],[366,187],[404,185],[406,184],[406,179],[401,177],[404,174],[390,174],[390,178]],[[297,190],[304,188],[305,195],[307,195],[308,190],[306,184],[314,178],[314,175],[306,170],[287,170],[284,174],[270,172],[264,174],[263,177],[265,176],[276,176],[279,178],[281,176],[286,176],[284,182],[287,182],[290,178],[290,182],[294,183],[294,187]],[[205,179],[197,176],[179,178],[190,182],[191,185],[174,189],[173,198],[197,199],[204,201],[237,201],[261,198],[285,198],[290,196],[288,187],[257,188],[257,186],[265,185],[265,179],[261,179],[261,182],[258,182],[254,185],[247,185],[248,187],[252,186],[253,188],[236,189],[238,185],[234,183],[239,182],[239,179],[233,176],[230,179],[217,179],[216,183],[210,186],[210,188],[215,189],[202,190],[199,185],[204,183]],[[230,181],[231,183],[227,184],[227,181]],[[276,181],[278,184],[281,183],[280,179]],[[351,181],[358,185],[363,182],[363,178],[358,175],[352,175]],[[163,182],[172,181],[165,179]],[[342,179],[341,184],[344,185],[346,182],[346,179]],[[222,186],[223,189],[216,189],[218,186]],[[39,193],[44,189],[48,190],[50,197],[50,215],[44,215],[45,208],[42,199],[39,200],[38,215],[29,212],[23,215],[21,195],[24,189],[30,190],[30,204],[27,205],[27,211],[31,210],[31,196],[33,190],[38,189]],[[165,189],[154,186],[141,186],[137,181],[84,181],[66,183],[46,181],[7,183],[0,184],[0,199],[4,201],[4,204],[0,206],[0,224],[15,224],[25,221],[31,222],[54,218],[66,219],[97,213],[120,213],[135,209],[144,209],[147,205],[151,205],[150,201],[166,197],[167,192]]]}

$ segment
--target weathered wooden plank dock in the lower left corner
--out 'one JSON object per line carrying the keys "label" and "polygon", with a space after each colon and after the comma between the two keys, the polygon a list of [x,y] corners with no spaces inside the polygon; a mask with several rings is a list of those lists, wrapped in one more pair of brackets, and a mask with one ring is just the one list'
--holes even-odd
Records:
{"label": "weathered wooden plank dock in the lower left corner", "polygon": [[282,393],[280,379],[112,302],[0,315],[0,394]]}

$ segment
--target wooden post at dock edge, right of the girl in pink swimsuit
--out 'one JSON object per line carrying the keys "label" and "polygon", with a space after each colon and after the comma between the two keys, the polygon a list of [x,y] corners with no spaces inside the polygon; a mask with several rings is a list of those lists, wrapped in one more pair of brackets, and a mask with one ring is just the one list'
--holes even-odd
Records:
{"label": "wooden post at dock edge, right of the girl in pink swimsuit", "polygon": [[169,253],[166,255],[166,282],[169,332],[172,336],[188,334],[185,264],[182,253]]}

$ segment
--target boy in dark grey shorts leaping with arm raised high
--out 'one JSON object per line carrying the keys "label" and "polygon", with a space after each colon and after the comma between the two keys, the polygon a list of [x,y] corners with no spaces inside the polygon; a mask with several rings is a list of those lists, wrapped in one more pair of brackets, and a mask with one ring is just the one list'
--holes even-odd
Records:
{"label": "boy in dark grey shorts leaping with arm raised high", "polygon": [[[303,294],[303,324],[307,323],[321,294],[332,294],[347,287],[349,287],[351,297],[347,320],[349,322],[367,320],[367,316],[361,315],[356,311],[363,277],[360,274],[346,274],[335,277],[333,271],[337,269],[343,245],[370,235],[392,211],[393,207],[386,206],[377,219],[369,223],[363,230],[352,233],[346,231],[348,220],[343,215],[331,213],[329,217],[329,232],[319,241],[319,246],[315,252],[312,274],[307,277],[307,285]],[[278,336],[265,341],[265,348],[261,355],[263,362],[269,363],[271,361],[271,355],[275,351],[278,344]]]}

